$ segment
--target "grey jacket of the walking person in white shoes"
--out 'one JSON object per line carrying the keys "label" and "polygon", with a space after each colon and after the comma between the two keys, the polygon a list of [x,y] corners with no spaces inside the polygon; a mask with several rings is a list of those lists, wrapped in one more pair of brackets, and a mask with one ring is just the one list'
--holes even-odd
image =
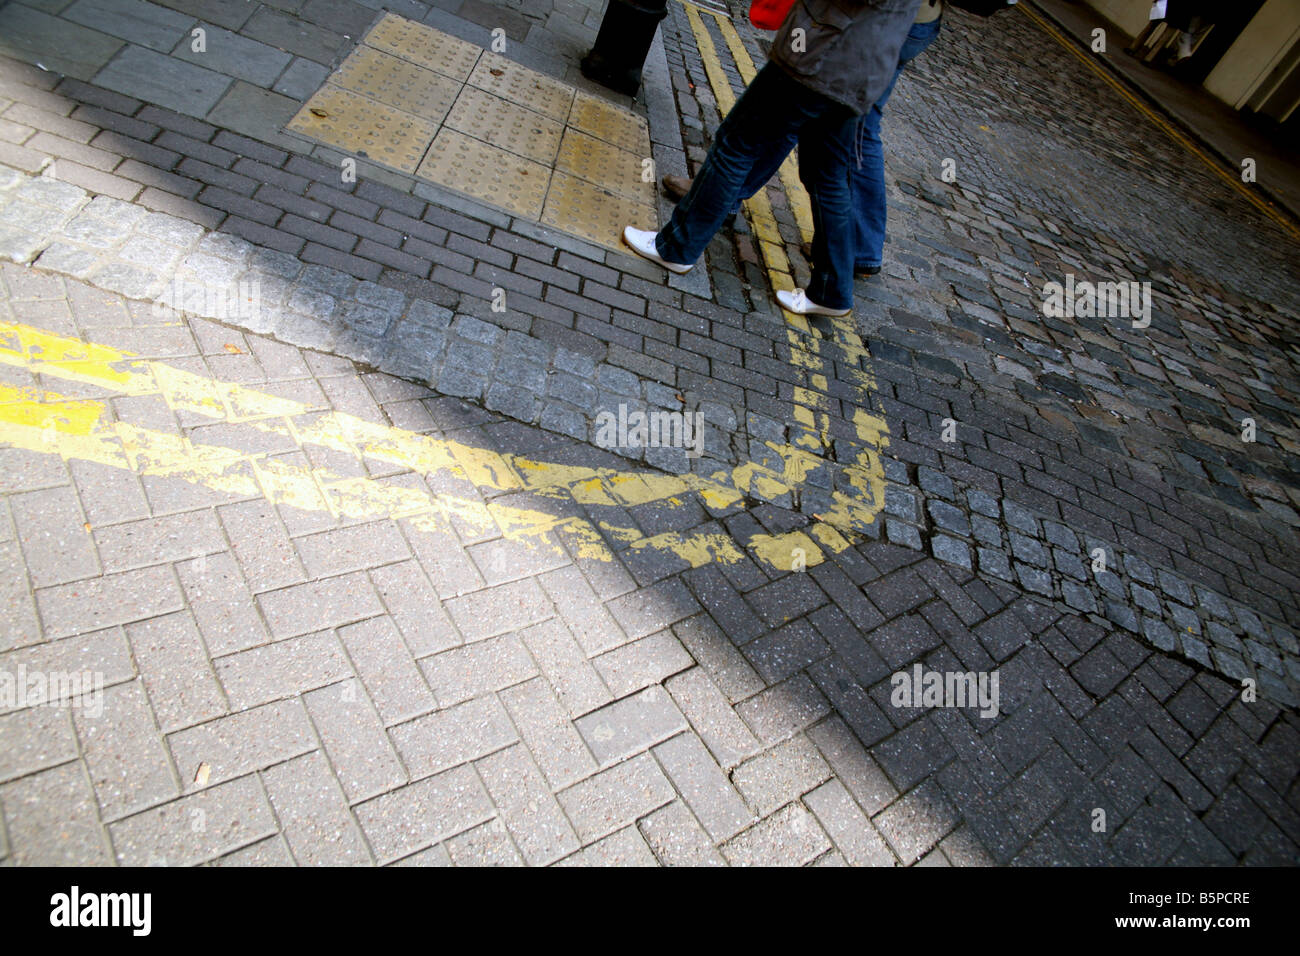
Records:
{"label": "grey jacket of the walking person in white shoes", "polygon": [[796,0],[771,60],[810,90],[866,113],[898,69],[920,1]]}

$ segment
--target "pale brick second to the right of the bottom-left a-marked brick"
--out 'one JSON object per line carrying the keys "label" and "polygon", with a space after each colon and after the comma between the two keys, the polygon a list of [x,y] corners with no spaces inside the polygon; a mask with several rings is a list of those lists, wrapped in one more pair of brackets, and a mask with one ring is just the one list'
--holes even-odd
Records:
{"label": "pale brick second to the right of the bottom-left a-marked brick", "polygon": [[467,766],[382,793],[356,808],[356,819],[380,862],[439,843],[491,817],[488,795]]}

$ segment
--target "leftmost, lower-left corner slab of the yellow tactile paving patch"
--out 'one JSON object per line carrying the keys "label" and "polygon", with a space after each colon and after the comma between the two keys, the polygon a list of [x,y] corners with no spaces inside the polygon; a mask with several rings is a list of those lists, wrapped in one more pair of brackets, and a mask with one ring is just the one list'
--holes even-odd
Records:
{"label": "leftmost, lower-left corner slab of the yellow tactile paving patch", "polygon": [[413,173],[438,125],[325,85],[289,121],[289,129],[403,173]]}

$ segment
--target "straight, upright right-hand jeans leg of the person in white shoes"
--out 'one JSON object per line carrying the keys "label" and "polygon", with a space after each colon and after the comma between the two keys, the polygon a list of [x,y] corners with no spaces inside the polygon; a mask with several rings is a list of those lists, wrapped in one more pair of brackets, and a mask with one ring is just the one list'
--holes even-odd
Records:
{"label": "straight, upright right-hand jeans leg of the person in white shoes", "polygon": [[853,308],[853,165],[858,117],[835,109],[800,139],[800,179],[812,203],[812,280],[807,297],[828,308]]}

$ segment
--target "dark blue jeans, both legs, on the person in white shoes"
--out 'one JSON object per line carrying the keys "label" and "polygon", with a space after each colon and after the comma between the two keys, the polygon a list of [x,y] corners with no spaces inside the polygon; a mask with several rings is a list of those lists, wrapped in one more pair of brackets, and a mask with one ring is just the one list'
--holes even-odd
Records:
{"label": "dark blue jeans, both legs, on the person in white shoes", "polygon": [[[812,199],[814,243],[822,243],[807,295],[831,308],[853,307],[853,209],[849,161],[858,117],[809,90],[768,62],[723,120],[690,191],[677,203],[655,237],[655,248],[670,263],[694,263],[705,246],[734,213],[741,199],[757,193],[794,148],[800,178]],[[763,178],[753,185],[753,177]],[[749,191],[746,191],[749,190]],[[827,242],[828,237],[840,241]]]}

